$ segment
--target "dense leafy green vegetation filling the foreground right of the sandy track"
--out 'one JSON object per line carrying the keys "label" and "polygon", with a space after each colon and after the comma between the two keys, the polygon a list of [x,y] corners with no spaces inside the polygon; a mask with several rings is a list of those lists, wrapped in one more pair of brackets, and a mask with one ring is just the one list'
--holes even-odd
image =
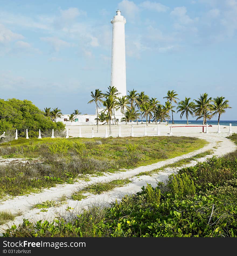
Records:
{"label": "dense leafy green vegetation filling the foreground right of the sandy track", "polygon": [[237,237],[236,198],[237,150],[183,168],[155,188],[147,184],[111,207],[89,207],[70,222],[24,220],[3,236]]}

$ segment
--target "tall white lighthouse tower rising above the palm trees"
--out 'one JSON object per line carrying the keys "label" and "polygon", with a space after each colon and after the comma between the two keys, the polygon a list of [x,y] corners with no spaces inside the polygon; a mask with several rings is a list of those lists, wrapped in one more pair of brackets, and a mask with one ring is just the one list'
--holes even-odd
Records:
{"label": "tall white lighthouse tower rising above the palm trees", "polygon": [[112,54],[111,54],[111,79],[110,85],[120,92],[119,97],[127,95],[126,89],[126,62],[125,62],[125,32],[126,19],[117,14],[111,19],[112,29]]}

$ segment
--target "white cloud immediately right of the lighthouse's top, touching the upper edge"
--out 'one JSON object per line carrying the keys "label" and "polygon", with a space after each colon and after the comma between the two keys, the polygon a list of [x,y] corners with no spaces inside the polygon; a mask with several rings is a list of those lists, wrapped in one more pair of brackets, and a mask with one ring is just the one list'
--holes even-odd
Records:
{"label": "white cloud immediately right of the lighthouse's top, touching the upper edge", "polygon": [[123,15],[126,19],[130,19],[133,21],[137,15],[139,14],[140,10],[133,1],[123,0],[118,4],[118,7],[121,11],[121,15]]}

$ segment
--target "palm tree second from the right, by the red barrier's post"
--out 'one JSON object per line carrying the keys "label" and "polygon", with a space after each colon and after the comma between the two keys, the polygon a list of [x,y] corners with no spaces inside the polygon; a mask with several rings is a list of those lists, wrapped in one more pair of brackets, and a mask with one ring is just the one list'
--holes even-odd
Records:
{"label": "palm tree second from the right, by the red barrier's post", "polygon": [[[200,94],[200,98],[194,100],[195,104],[195,116],[197,119],[203,118],[203,125],[206,124],[207,119],[211,119],[211,112],[213,110],[212,99],[208,98],[208,94]],[[209,116],[209,117],[207,117]]]}

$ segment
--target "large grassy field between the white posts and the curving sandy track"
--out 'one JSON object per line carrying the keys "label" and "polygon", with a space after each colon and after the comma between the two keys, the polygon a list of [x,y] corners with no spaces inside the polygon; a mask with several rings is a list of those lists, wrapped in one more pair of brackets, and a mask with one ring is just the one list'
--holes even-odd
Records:
{"label": "large grassy field between the white posts and the curving sandy track", "polygon": [[19,138],[0,145],[0,155],[39,158],[41,163],[0,166],[0,198],[38,193],[57,184],[72,184],[126,171],[202,148],[192,137]]}

